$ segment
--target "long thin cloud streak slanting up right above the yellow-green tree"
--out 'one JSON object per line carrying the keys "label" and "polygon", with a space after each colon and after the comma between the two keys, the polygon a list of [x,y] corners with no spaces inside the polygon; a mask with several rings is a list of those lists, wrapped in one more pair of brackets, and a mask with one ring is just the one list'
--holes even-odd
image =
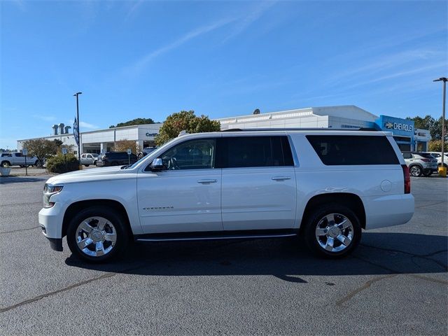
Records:
{"label": "long thin cloud streak slanting up right above the yellow-green tree", "polygon": [[144,57],[141,57],[137,62],[132,64],[131,66],[128,66],[128,69],[130,69],[134,73],[138,73],[146,65],[148,65],[149,62],[151,62],[152,59],[155,57],[158,57],[162,54],[165,54],[165,52],[169,52],[175,48],[179,48],[181,45],[187,43],[188,41],[192,40],[193,38],[197,38],[201,35],[207,34],[210,31],[214,31],[218,28],[221,28],[225,25],[228,25],[230,22],[235,21],[235,19],[226,19],[226,20],[220,20],[218,22],[215,22],[211,25],[202,26],[197,29],[193,29],[192,31],[189,31],[187,34],[182,36],[181,38],[178,38],[176,41],[169,43],[167,45],[164,45],[156,50],[153,50],[151,52],[148,52]]}

